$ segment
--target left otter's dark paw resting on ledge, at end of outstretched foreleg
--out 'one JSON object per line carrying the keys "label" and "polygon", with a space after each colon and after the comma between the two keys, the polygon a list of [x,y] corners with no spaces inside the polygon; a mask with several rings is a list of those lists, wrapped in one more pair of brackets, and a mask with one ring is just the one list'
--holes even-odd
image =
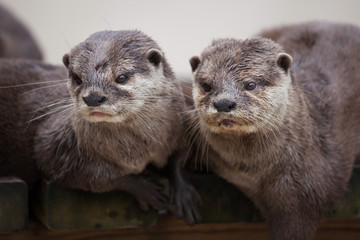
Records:
{"label": "left otter's dark paw resting on ledge, at end of outstretched foreleg", "polygon": [[149,179],[141,181],[141,189],[135,195],[142,210],[149,210],[149,205],[156,210],[165,210],[169,199],[162,193],[164,187]]}

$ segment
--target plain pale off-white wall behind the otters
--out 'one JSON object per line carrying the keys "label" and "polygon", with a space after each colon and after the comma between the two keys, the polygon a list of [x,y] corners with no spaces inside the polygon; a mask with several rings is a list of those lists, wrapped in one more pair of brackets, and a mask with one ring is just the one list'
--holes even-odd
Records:
{"label": "plain pale off-white wall behind the otters", "polygon": [[247,38],[279,24],[331,20],[360,26],[359,0],[0,0],[31,29],[46,61],[61,64],[91,33],[139,29],[180,76],[211,39]]}

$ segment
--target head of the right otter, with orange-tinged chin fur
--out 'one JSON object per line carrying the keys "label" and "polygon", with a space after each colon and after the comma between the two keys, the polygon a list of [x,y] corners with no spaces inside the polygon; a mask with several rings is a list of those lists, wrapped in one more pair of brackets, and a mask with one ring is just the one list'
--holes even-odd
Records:
{"label": "head of the right otter, with orange-tinged chin fur", "polygon": [[268,39],[220,39],[190,59],[201,126],[215,133],[272,129],[286,113],[292,58]]}

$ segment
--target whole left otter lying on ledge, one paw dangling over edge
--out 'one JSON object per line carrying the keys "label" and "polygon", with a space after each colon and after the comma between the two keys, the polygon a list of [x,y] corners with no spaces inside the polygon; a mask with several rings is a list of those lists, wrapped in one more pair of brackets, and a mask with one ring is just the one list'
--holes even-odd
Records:
{"label": "whole left otter lying on ledge, one paw dangling over edge", "polygon": [[169,159],[178,215],[196,223],[200,200],[178,169],[185,102],[160,47],[140,31],[103,31],[63,62],[0,62],[0,84],[15,85],[0,90],[0,174],[32,183],[40,172],[63,187],[122,190],[144,210],[164,209],[168,199],[146,167]]}

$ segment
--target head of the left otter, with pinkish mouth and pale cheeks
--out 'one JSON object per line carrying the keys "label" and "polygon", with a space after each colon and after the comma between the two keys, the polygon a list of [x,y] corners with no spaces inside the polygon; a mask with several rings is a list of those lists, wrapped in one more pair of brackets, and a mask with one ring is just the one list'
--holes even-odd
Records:
{"label": "head of the left otter, with pinkish mouth and pale cheeks", "polygon": [[75,111],[91,122],[130,119],[164,91],[163,53],[139,31],[95,33],[65,54],[63,63]]}

